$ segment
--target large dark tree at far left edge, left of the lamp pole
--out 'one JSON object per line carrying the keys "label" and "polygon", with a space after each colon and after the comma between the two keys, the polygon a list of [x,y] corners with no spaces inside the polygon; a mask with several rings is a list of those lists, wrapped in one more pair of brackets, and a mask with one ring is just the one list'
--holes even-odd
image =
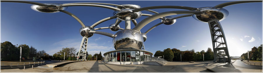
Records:
{"label": "large dark tree at far left edge, left of the lamp pole", "polygon": [[9,41],[1,43],[1,61],[19,60],[18,49]]}

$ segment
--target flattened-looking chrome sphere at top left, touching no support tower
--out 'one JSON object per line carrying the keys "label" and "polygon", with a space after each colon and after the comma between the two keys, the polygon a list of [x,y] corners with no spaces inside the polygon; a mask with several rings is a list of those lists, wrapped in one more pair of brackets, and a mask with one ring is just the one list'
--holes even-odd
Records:
{"label": "flattened-looking chrome sphere at top left, touching no support tower", "polygon": [[32,5],[31,8],[34,11],[42,12],[42,13],[57,13],[59,10],[65,10],[68,7],[62,7],[61,4],[55,3],[45,3],[47,6],[38,6]]}

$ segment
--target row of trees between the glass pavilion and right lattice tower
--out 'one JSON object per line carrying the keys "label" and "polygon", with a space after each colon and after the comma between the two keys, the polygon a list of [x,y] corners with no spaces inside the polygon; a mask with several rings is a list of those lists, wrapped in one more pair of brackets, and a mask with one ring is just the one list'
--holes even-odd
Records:
{"label": "row of trees between the glass pavilion and right lattice tower", "polygon": [[207,48],[207,51],[205,50],[195,52],[194,49],[190,51],[180,51],[177,48],[167,48],[163,51],[156,51],[154,54],[154,57],[163,57],[167,61],[202,61],[204,55],[204,60],[214,60],[214,52],[211,48]]}

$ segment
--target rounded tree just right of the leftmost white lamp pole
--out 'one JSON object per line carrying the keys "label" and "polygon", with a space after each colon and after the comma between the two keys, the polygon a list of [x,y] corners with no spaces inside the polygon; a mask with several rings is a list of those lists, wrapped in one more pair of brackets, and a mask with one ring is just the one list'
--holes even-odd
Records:
{"label": "rounded tree just right of the leftmost white lamp pole", "polygon": [[29,57],[29,46],[26,44],[19,45],[19,48],[22,47],[22,58],[28,58]]}

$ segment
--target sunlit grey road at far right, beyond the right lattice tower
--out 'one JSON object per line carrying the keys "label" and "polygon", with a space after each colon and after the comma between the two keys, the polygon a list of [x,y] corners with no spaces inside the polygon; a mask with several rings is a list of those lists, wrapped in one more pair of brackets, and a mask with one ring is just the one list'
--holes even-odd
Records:
{"label": "sunlit grey road at far right, beyond the right lattice tower", "polygon": [[262,66],[252,66],[252,65],[246,65],[240,60],[236,60],[232,65],[236,67],[246,68],[246,69],[262,69]]}

